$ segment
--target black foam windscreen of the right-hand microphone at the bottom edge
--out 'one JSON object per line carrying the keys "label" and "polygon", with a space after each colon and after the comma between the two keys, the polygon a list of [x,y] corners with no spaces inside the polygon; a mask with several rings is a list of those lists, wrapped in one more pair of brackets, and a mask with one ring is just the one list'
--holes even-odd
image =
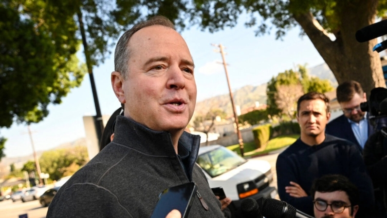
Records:
{"label": "black foam windscreen of the right-hand microphone at the bottom edge", "polygon": [[[286,206],[288,208],[284,211]],[[261,211],[263,217],[270,218],[295,218],[297,213],[297,210],[292,205],[273,198],[267,198],[263,201]]]}

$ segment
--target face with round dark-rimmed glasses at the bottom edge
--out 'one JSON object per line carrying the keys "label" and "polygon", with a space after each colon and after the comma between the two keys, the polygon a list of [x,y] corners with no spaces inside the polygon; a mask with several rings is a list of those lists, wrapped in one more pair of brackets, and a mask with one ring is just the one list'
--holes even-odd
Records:
{"label": "face with round dark-rimmed glasses at the bottom edge", "polygon": [[[314,194],[314,201],[317,201],[317,203],[315,203],[313,206],[315,218],[354,218],[359,208],[359,206],[353,205],[353,214],[352,216],[350,215],[351,214],[350,199],[348,198],[347,193],[344,191],[316,192]],[[332,207],[334,208],[334,210],[336,211],[342,210],[342,212],[335,213],[332,210],[331,205],[327,205],[327,209],[324,211],[321,211],[322,210],[321,208],[324,208],[326,203],[327,204],[333,203]]]}

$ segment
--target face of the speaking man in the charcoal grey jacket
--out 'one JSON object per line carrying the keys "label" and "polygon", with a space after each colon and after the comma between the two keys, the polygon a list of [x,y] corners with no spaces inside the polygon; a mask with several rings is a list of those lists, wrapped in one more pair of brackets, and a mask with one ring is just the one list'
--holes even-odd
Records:
{"label": "face of the speaking man in the charcoal grey jacket", "polygon": [[152,130],[182,132],[195,109],[194,64],[184,39],[154,25],[129,40],[128,79],[122,91],[125,116]]}

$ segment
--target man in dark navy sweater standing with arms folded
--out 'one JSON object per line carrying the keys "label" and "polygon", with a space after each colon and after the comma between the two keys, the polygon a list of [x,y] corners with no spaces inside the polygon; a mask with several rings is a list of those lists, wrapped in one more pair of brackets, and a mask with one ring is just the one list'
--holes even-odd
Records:
{"label": "man in dark navy sweater standing with arms folded", "polygon": [[372,183],[355,144],[325,134],[331,117],[329,99],[310,92],[297,101],[300,138],[278,155],[276,161],[279,198],[313,216],[313,198],[307,193],[313,180],[327,174],[348,177],[360,190],[359,218],[373,208]]}

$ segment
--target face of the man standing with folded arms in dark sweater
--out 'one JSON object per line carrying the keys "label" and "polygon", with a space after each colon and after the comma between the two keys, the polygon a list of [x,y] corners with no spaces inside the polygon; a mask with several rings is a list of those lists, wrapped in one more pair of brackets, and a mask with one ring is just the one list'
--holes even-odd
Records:
{"label": "face of the man standing with folded arms in dark sweater", "polygon": [[325,102],[321,99],[301,101],[297,121],[304,137],[317,137],[325,134],[325,126],[331,114],[326,112]]}

